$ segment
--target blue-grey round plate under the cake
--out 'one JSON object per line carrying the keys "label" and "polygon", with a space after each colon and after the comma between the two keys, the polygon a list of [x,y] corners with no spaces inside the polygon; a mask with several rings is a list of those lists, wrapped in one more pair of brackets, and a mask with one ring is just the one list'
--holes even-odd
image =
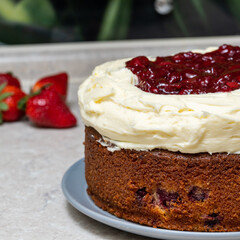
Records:
{"label": "blue-grey round plate under the cake", "polygon": [[87,183],[85,180],[84,158],[73,164],[62,179],[62,190],[69,203],[83,214],[102,222],[111,227],[135,233],[138,235],[158,238],[158,239],[177,239],[177,240],[212,240],[212,239],[240,239],[240,232],[189,232],[175,231],[160,228],[151,228],[140,224],[128,222],[111,215],[97,207],[88,196]]}

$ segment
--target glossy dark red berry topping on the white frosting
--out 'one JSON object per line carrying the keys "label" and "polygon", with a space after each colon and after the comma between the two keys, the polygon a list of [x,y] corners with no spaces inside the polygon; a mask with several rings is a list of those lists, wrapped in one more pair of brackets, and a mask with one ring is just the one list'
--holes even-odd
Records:
{"label": "glossy dark red berry topping on the white frosting", "polygon": [[154,94],[203,94],[240,88],[240,47],[222,45],[205,54],[182,52],[157,57],[139,56],[126,62],[138,77],[138,88]]}

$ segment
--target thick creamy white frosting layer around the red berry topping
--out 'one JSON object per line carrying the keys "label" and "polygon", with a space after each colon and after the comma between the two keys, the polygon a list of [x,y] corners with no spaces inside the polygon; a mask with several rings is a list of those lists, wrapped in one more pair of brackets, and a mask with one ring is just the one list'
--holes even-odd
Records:
{"label": "thick creamy white frosting layer around the red berry topping", "polygon": [[240,90],[157,95],[134,86],[126,59],[95,68],[78,91],[86,126],[119,148],[240,153]]}

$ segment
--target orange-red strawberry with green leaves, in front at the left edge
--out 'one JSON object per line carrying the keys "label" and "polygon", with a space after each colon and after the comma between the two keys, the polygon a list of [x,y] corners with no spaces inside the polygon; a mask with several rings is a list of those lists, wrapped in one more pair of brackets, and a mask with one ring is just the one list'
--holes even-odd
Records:
{"label": "orange-red strawberry with green leaves, in front at the left edge", "polygon": [[24,111],[18,108],[18,102],[26,94],[18,87],[0,85],[0,123],[2,121],[12,122],[20,119]]}

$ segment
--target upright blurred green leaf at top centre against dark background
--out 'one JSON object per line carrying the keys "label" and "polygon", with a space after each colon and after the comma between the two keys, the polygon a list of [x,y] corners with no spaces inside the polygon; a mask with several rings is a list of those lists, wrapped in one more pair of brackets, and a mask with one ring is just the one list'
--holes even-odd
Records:
{"label": "upright blurred green leaf at top centre against dark background", "polygon": [[131,17],[132,0],[109,0],[98,40],[124,39]]}

